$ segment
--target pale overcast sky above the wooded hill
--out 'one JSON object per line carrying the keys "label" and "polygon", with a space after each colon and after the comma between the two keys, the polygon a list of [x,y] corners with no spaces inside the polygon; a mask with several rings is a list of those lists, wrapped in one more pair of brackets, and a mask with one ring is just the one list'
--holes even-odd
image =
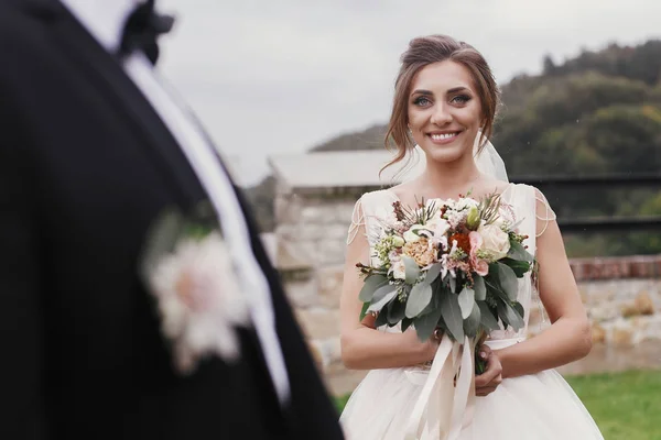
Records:
{"label": "pale overcast sky above the wooded hill", "polygon": [[384,122],[399,56],[418,35],[476,46],[500,84],[582,47],[661,37],[658,0],[159,0],[175,13],[159,67],[243,184],[295,154]]}

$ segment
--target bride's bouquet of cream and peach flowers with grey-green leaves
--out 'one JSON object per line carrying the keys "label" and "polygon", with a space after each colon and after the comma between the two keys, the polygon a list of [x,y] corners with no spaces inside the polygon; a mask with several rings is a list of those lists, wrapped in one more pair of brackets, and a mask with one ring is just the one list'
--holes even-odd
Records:
{"label": "bride's bouquet of cream and peach flowers with grey-green leaves", "polygon": [[412,324],[421,341],[440,329],[455,342],[478,340],[476,349],[499,322],[523,326],[518,278],[532,270],[533,256],[499,195],[412,208],[397,201],[380,227],[372,264],[356,265],[365,276],[360,319],[373,314],[377,327],[401,322],[402,331]]}

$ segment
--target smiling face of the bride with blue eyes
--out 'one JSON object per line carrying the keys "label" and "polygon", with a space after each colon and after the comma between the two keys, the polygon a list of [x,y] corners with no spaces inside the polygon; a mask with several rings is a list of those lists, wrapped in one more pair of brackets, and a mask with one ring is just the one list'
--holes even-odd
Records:
{"label": "smiling face of the bride with blue eyes", "polygon": [[444,61],[423,67],[409,95],[409,128],[427,161],[454,162],[473,153],[481,102],[470,72]]}

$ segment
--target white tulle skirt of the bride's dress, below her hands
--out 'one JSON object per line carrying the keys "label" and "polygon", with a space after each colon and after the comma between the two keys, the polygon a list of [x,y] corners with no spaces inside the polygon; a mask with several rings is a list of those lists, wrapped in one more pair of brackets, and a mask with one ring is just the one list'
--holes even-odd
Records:
{"label": "white tulle skirt of the bride's dress, below her hands", "polygon": [[[347,440],[403,440],[424,385],[423,369],[371,371],[340,417]],[[477,397],[473,421],[459,440],[592,440],[599,429],[574,391],[554,370],[503,380]]]}

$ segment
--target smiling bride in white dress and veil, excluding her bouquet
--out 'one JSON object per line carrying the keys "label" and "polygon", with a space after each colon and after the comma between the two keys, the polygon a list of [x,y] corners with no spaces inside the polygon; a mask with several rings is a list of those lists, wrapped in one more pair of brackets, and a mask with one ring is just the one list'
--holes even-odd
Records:
{"label": "smiling bride in white dress and veil, excluding her bouquet", "polygon": [[[426,165],[416,178],[365,194],[356,204],[340,299],[342,356],[348,369],[371,371],[342,414],[347,438],[603,439],[578,397],[553,370],[589,352],[590,327],[546,199],[533,187],[508,184],[500,156],[488,142],[499,103],[489,66],[474,47],[443,35],[411,41],[401,61],[388,131],[398,155],[389,165],[407,158],[415,144]],[[452,386],[446,383],[453,382],[452,375],[436,367],[444,361],[437,354],[447,337],[435,334],[420,342],[413,329],[376,329],[370,315],[359,321],[362,278],[356,263],[370,263],[370,232],[394,201],[414,206],[421,198],[456,199],[468,191],[477,199],[501,194],[540,268],[534,285],[530,274],[519,284],[525,326],[492,331],[479,349],[487,370],[477,377],[470,370],[469,386],[464,387],[456,378],[462,374],[457,356],[447,356],[456,374]],[[527,338],[535,288],[552,326]]]}

